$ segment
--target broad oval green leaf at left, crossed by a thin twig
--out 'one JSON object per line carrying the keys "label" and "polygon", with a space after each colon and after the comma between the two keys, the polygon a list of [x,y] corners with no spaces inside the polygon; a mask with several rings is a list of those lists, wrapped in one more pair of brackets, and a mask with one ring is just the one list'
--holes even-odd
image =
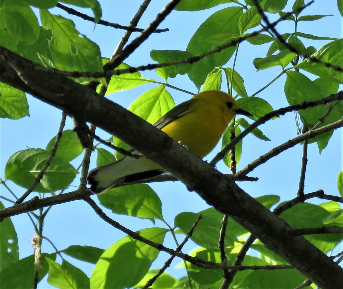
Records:
{"label": "broad oval green leaf at left, crossed by a thin twig", "polygon": [[[5,178],[28,189],[42,171],[50,153],[43,149],[26,149],[14,153],[5,165]],[[51,192],[66,188],[78,171],[69,163],[55,156],[35,192]]]}

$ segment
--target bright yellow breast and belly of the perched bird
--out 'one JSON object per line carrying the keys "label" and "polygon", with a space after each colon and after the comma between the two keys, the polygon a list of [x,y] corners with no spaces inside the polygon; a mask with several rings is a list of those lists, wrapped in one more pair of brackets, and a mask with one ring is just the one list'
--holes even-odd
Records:
{"label": "bright yellow breast and belly of the perched bird", "polygon": [[200,100],[189,113],[161,130],[203,158],[214,149],[232,117],[227,115],[226,106]]}

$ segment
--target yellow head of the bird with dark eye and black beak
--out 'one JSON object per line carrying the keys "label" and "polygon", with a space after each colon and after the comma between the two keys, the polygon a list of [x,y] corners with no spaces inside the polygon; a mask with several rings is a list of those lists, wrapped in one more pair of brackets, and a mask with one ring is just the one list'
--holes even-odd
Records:
{"label": "yellow head of the bird with dark eye and black beak", "polygon": [[209,90],[200,92],[193,97],[194,99],[201,99],[210,105],[220,107],[227,123],[229,123],[236,114],[243,114],[252,116],[251,113],[240,109],[235,99],[228,93],[219,90]]}

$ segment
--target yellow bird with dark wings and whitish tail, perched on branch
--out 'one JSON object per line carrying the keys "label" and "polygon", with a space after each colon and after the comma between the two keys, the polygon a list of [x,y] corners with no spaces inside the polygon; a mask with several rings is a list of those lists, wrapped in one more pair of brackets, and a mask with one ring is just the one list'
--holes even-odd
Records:
{"label": "yellow bird with dark wings and whitish tail, perched on branch", "polygon": [[[236,114],[250,115],[238,108],[232,96],[223,91],[204,91],[190,100],[175,106],[162,116],[154,126],[185,146],[193,154],[203,158],[209,154],[222,137],[229,122]],[[125,156],[121,160],[97,167],[88,173],[90,190],[101,194],[121,182],[146,180],[166,170],[146,159],[138,151],[131,153],[140,157]]]}

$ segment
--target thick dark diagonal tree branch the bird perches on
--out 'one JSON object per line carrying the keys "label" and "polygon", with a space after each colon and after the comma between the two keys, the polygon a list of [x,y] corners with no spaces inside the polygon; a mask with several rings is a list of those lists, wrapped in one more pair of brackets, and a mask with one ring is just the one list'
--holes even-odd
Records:
{"label": "thick dark diagonal tree branch the bird perches on", "polygon": [[27,62],[30,61],[0,48],[0,81],[119,137],[166,168],[216,210],[229,214],[316,285],[327,289],[341,287],[343,269],[339,265],[304,237],[297,236],[283,219],[228,177],[120,105],[99,98],[92,89],[66,77],[23,69]]}

